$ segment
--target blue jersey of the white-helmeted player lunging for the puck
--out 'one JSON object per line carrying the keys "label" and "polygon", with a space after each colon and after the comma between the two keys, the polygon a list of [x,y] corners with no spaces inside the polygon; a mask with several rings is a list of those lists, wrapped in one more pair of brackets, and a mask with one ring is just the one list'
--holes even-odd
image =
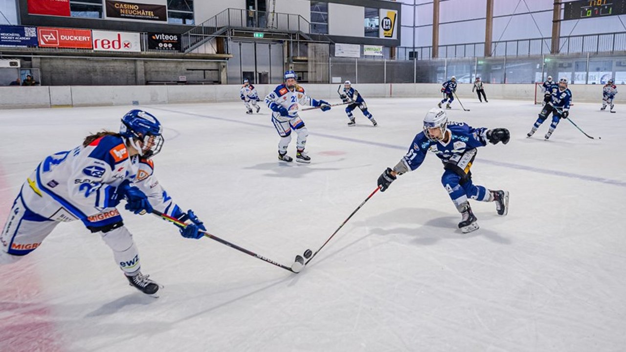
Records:
{"label": "blue jersey of the white-helmeted player lunging for the puck", "polygon": [[466,150],[487,145],[486,127],[473,128],[463,122],[448,122],[448,130],[451,134],[448,143],[431,141],[424,132],[419,132],[413,139],[409,152],[403,157],[404,163],[413,171],[424,162],[428,151],[435,153],[446,163],[455,155],[457,157],[462,155]]}

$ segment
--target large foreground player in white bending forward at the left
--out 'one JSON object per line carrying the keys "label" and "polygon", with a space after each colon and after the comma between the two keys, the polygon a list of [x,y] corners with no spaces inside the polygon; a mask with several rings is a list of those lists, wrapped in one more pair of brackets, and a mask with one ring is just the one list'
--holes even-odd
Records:
{"label": "large foreground player in white bending forward at the left", "polygon": [[141,274],[133,236],[117,209],[145,214],[156,209],[185,222],[183,237],[200,238],[204,225],[192,210],[184,213],[153,176],[151,157],[163,146],[155,116],[131,110],[121,118],[119,133],[103,131],[78,147],[46,157],[28,176],[13,202],[0,234],[0,264],[11,264],[39,247],[60,222],[81,220],[113,250],[128,282],[145,294],[159,286]]}

